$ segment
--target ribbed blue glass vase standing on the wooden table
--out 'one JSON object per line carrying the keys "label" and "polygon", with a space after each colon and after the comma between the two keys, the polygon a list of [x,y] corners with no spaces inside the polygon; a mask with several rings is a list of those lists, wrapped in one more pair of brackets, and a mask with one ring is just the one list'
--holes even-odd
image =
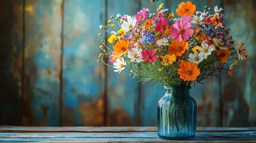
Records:
{"label": "ribbed blue glass vase standing on the wooden table", "polygon": [[164,86],[166,93],[157,108],[157,133],[162,139],[191,139],[196,136],[196,101],[191,86]]}

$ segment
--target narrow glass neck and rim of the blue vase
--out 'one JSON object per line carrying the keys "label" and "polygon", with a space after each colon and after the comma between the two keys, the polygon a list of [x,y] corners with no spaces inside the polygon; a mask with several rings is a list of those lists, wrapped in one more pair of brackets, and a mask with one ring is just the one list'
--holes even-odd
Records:
{"label": "narrow glass neck and rim of the blue vase", "polygon": [[191,86],[164,86],[165,96],[190,97]]}

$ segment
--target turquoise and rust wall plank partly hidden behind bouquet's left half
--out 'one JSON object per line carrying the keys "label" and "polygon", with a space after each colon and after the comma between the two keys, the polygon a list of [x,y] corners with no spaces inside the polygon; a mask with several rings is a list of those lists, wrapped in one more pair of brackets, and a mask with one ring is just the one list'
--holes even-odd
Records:
{"label": "turquoise and rust wall plank partly hidden behind bouquet's left half", "polygon": [[[125,5],[125,7],[124,7]],[[139,10],[139,1],[108,0],[107,20],[116,14],[135,15]],[[115,23],[117,26],[118,24]],[[120,27],[117,28],[118,30]],[[114,29],[113,29],[114,30]],[[111,31],[111,30],[110,30]],[[110,35],[108,35],[109,37]],[[112,48],[112,45],[109,44]],[[109,59],[108,59],[109,60]],[[129,70],[129,69],[126,69]],[[114,68],[108,67],[107,71],[107,126],[136,126],[138,125],[138,98],[139,89],[137,79],[129,76],[129,71],[120,74]]]}

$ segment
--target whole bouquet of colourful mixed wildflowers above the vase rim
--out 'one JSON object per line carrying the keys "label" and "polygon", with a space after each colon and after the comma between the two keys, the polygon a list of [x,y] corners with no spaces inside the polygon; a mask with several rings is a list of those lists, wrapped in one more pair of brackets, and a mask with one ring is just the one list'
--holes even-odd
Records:
{"label": "whole bouquet of colourful mixed wildflowers above the vase rim", "polygon": [[[247,57],[243,42],[235,43],[225,27],[223,8],[196,11],[190,1],[181,2],[175,17],[163,4],[154,2],[156,13],[144,8],[133,16],[117,14],[99,26],[111,34],[106,43],[99,33],[105,46],[100,46],[99,61],[118,73],[129,70],[140,81],[190,86],[217,76],[218,70],[232,75],[237,61]],[[229,68],[225,67],[228,60],[232,62]]]}

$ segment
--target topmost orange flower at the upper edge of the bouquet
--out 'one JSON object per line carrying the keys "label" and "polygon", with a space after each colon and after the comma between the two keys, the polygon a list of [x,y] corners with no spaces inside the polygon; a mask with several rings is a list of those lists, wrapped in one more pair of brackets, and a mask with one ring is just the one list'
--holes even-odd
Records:
{"label": "topmost orange flower at the upper edge of the bouquet", "polygon": [[188,1],[188,2],[181,2],[181,4],[179,4],[179,7],[176,9],[176,13],[177,15],[188,15],[190,17],[192,17],[194,15],[194,12],[196,11],[196,5],[193,5],[192,2]]}

